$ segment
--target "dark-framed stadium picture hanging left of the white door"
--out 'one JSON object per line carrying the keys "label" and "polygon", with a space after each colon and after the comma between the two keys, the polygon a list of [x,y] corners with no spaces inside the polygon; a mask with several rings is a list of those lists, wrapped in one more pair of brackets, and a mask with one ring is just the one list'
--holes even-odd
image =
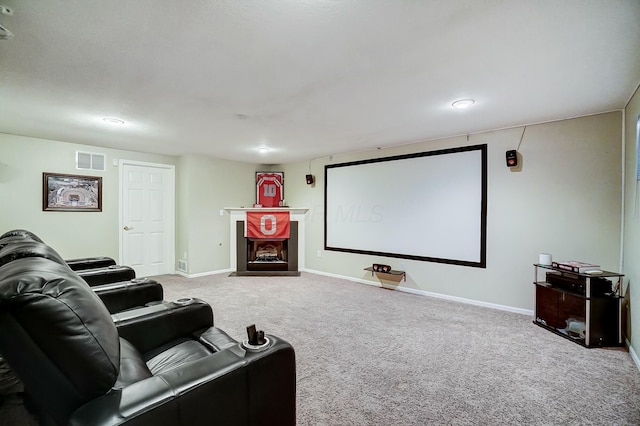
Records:
{"label": "dark-framed stadium picture hanging left of the white door", "polygon": [[43,173],[42,210],[101,212],[102,178],[99,176]]}

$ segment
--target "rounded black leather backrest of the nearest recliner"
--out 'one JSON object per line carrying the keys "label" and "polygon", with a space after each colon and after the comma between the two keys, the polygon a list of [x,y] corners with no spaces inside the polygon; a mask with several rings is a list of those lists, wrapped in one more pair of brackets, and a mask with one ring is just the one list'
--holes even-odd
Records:
{"label": "rounded black leather backrest of the nearest recliner", "polygon": [[[73,389],[86,402],[116,382],[118,331],[95,292],[67,266],[40,257],[1,266],[0,328],[2,321],[10,322],[20,331],[16,336],[22,336],[14,337],[7,329],[0,333],[0,353],[10,364],[37,371],[39,366],[33,364],[38,352],[55,366],[49,380],[31,377],[35,383],[25,382],[26,388]],[[63,383],[50,383],[53,380]]]}

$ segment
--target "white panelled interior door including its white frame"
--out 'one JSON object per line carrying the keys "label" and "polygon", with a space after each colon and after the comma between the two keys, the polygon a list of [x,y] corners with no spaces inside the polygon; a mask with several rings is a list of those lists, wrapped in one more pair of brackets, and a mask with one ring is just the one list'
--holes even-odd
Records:
{"label": "white panelled interior door including its white frame", "polygon": [[175,272],[175,167],[120,161],[120,263],[136,277]]}

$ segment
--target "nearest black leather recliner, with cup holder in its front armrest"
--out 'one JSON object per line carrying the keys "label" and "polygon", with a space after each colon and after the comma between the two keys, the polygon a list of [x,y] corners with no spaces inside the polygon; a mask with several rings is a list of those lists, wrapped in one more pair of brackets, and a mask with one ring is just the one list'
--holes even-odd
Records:
{"label": "nearest black leather recliner, with cup holder in its front armrest", "polygon": [[0,353],[47,421],[295,424],[291,345],[268,336],[249,350],[210,327],[212,316],[171,316],[116,327],[66,265],[24,257],[0,266]]}

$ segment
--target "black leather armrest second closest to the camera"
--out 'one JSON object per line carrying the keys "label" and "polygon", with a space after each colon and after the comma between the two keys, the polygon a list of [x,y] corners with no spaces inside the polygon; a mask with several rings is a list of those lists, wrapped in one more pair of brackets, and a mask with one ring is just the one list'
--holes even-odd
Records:
{"label": "black leather armrest second closest to the camera", "polygon": [[111,315],[120,337],[144,353],[180,337],[213,326],[213,310],[200,299],[162,302]]}

